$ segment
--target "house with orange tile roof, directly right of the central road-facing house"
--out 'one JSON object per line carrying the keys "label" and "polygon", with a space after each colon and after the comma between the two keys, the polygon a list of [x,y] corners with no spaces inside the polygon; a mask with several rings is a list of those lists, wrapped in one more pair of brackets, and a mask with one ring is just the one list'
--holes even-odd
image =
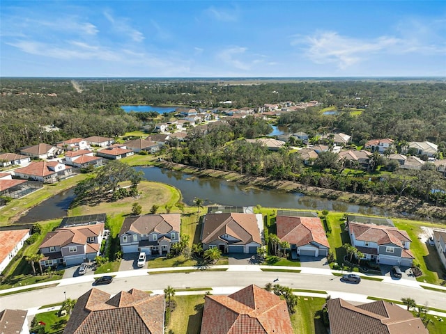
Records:
{"label": "house with orange tile roof, directly right of the central road-facing house", "polygon": [[330,244],[325,236],[321,219],[317,217],[276,217],[277,237],[288,241],[291,255],[327,256]]}

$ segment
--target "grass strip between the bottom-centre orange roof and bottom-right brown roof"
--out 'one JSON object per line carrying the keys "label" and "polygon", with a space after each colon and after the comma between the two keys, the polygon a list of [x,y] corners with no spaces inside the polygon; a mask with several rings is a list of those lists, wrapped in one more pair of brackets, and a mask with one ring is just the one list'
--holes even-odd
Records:
{"label": "grass strip between the bottom-centre orange roof and bottom-right brown roof", "polygon": [[291,315],[294,333],[325,334],[325,327],[320,311],[325,303],[324,298],[298,296],[298,306],[295,314]]}

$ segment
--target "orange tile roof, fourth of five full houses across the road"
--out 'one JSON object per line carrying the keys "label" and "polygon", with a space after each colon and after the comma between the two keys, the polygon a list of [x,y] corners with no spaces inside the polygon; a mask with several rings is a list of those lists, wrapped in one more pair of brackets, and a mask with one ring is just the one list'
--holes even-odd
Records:
{"label": "orange tile roof, fourth of five full houses across the road", "polygon": [[298,247],[316,242],[330,248],[321,219],[316,217],[277,216],[277,237]]}

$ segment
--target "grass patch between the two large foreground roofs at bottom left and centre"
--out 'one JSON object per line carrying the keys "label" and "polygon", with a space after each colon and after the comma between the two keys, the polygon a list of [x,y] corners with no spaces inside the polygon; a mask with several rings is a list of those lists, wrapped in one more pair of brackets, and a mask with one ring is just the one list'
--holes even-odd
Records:
{"label": "grass patch between the two large foreground roofs at bottom left and centre", "polygon": [[171,312],[166,334],[197,334],[201,328],[203,317],[204,296],[174,296],[176,309]]}

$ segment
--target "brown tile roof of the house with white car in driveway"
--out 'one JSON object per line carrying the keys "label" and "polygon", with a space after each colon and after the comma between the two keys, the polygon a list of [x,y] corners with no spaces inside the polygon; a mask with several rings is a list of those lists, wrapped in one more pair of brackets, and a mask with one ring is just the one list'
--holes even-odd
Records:
{"label": "brown tile roof of the house with white car in driveway", "polygon": [[119,234],[128,231],[138,234],[150,234],[152,232],[169,233],[172,230],[180,232],[180,214],[146,214],[144,216],[131,216],[124,220]]}

